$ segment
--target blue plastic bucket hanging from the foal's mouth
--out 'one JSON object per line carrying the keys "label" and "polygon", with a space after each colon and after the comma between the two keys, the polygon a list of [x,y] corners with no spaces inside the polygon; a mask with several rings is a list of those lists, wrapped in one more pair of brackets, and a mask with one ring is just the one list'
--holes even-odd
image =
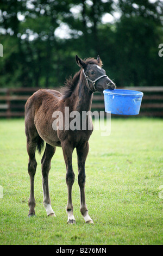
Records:
{"label": "blue plastic bucket hanging from the foal's mouth", "polygon": [[135,90],[104,90],[105,112],[118,115],[137,115],[143,93]]}

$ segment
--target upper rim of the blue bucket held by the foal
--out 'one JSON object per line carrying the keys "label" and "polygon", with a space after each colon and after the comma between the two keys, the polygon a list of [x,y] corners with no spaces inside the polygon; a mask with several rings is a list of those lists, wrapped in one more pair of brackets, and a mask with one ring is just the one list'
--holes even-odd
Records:
{"label": "upper rim of the blue bucket held by the foal", "polygon": [[125,89],[114,89],[114,90],[105,89],[103,91],[103,94],[114,95],[114,96],[133,96],[133,97],[143,96],[143,93],[140,92],[139,90],[125,90]]}

